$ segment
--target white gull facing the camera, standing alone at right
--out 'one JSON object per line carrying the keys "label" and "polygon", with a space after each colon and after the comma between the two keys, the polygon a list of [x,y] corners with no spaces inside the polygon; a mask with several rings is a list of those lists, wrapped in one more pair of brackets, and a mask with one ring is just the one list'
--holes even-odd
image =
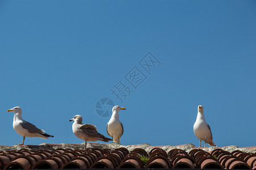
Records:
{"label": "white gull facing the camera, standing alone at right", "polygon": [[200,140],[200,147],[201,141],[208,143],[210,146],[216,146],[212,141],[212,131],[210,131],[210,126],[207,124],[204,118],[204,107],[201,105],[198,106],[197,118],[194,124],[194,133]]}

